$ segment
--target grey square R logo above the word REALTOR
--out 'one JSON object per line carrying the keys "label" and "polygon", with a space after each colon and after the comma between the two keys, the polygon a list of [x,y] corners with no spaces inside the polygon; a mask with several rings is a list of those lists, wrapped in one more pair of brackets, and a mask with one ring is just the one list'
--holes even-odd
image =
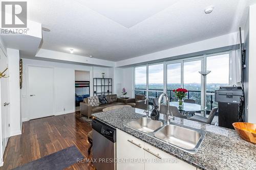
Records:
{"label": "grey square R logo above the word REALTOR", "polygon": [[27,28],[27,2],[2,2],[2,28]]}

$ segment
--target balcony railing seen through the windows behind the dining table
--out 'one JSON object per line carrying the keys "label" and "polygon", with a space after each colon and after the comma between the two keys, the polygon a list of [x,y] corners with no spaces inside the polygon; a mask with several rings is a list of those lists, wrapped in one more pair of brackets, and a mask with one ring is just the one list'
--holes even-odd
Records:
{"label": "balcony railing seen through the windows behind the dining table", "polygon": [[[153,104],[152,99],[158,98],[158,96],[163,93],[163,90],[159,89],[150,89],[148,90],[150,105]],[[135,94],[143,94],[146,95],[146,89],[135,89]],[[170,96],[171,102],[177,102],[178,99],[175,97],[175,92],[173,90],[167,90],[168,96]],[[210,111],[212,108],[217,107],[218,103],[215,102],[215,92],[214,91],[206,91],[206,107],[207,111]],[[201,105],[201,91],[199,90],[188,90],[187,99],[193,99],[196,101],[196,104]]]}

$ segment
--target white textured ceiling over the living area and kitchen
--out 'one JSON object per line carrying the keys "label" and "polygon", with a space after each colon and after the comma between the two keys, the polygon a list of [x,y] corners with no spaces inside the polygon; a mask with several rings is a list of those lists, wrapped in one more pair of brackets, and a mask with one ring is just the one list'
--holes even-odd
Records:
{"label": "white textured ceiling over the living area and kitchen", "polygon": [[[120,61],[237,32],[255,0],[29,0],[41,48]],[[214,11],[205,14],[206,7]]]}

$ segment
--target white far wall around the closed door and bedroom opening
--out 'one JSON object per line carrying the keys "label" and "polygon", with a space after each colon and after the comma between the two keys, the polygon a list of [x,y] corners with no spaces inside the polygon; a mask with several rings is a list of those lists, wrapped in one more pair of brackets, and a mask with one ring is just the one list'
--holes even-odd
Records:
{"label": "white far wall around the closed door and bedroom opening", "polygon": [[[29,120],[27,109],[27,66],[48,66],[54,68],[54,100],[55,115],[71,113],[75,111],[75,70],[90,71],[90,92],[93,92],[93,77],[101,77],[101,72],[109,76],[108,67],[92,67],[75,64],[65,64],[50,61],[23,59],[23,89],[21,90],[22,120]],[[47,107],[47,106],[46,106]],[[64,111],[65,108],[65,111]]]}

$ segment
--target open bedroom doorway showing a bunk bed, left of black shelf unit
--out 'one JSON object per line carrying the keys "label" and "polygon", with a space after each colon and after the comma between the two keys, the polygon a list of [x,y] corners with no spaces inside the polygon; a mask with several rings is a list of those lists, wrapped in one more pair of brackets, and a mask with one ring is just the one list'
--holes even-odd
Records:
{"label": "open bedroom doorway showing a bunk bed, left of black shelf unit", "polygon": [[80,111],[80,102],[90,96],[90,71],[75,70],[75,107]]}

